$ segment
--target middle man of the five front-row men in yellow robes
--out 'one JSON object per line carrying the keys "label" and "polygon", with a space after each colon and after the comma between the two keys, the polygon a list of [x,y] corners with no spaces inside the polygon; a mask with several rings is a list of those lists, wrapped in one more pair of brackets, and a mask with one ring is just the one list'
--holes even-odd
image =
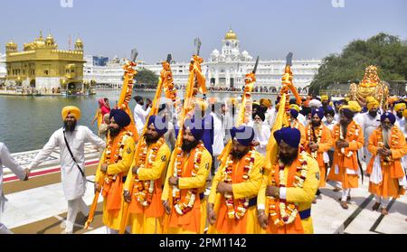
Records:
{"label": "middle man of the five front-row men in yellow robes", "polygon": [[[175,148],[171,159],[175,165],[168,166],[167,180],[164,186],[163,201],[168,214],[168,233],[204,233],[204,191],[206,179],[212,167],[212,155],[201,141],[204,135],[203,121],[195,117],[186,119],[183,130],[181,151]],[[171,161],[170,163],[173,163]],[[173,193],[170,192],[172,188]],[[185,200],[185,195],[192,192],[194,199]],[[178,196],[179,195],[179,196]],[[178,198],[179,197],[179,198]],[[173,203],[170,204],[169,199]],[[183,205],[187,202],[187,206]],[[191,225],[194,221],[194,225]]]}

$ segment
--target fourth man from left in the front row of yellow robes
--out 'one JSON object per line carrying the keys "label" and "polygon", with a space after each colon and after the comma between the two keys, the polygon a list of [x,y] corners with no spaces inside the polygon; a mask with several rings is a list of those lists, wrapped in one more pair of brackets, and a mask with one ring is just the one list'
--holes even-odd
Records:
{"label": "fourth man from left in the front row of yellow robes", "polygon": [[[231,153],[214,176],[208,198],[207,216],[209,224],[213,225],[208,233],[259,234],[256,203],[262,182],[264,157],[253,148],[254,130],[251,126],[232,127],[231,136]],[[228,173],[227,176],[223,175],[224,171]],[[222,197],[216,197],[217,193],[221,193]],[[230,197],[232,202],[246,200],[245,212],[239,210],[242,215],[228,212],[225,197]],[[213,209],[217,207],[219,211],[215,212]]]}

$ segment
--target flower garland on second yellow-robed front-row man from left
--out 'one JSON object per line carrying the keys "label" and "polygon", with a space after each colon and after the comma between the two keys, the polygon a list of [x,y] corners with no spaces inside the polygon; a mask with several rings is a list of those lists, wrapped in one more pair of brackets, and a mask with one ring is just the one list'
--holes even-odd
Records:
{"label": "flower garland on second yellow-robed front-row man from left", "polygon": [[[147,168],[151,167],[153,163],[156,161],[156,154],[160,147],[166,143],[166,140],[164,137],[160,137],[158,141],[156,141],[155,144],[151,145],[151,151],[150,154],[148,155],[147,158],[147,153],[148,153],[148,146],[146,143],[146,139],[143,138],[143,142],[141,143],[140,146],[140,158],[138,159],[137,162],[137,167],[138,168]],[[147,160],[147,164],[146,164]],[[140,181],[138,179],[138,175],[136,174],[134,176],[134,190],[135,197],[138,202],[144,207],[147,207],[150,205],[151,201],[153,200],[153,192],[154,192],[154,181]]]}

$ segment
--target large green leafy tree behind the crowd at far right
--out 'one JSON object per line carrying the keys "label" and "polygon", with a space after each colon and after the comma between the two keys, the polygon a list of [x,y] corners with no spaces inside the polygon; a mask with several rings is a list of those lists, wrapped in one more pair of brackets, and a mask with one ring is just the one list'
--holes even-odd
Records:
{"label": "large green leafy tree behind the crowd at far right", "polygon": [[366,41],[355,40],[341,54],[330,54],[322,60],[308,92],[318,95],[319,89],[326,89],[332,83],[361,80],[369,65],[377,66],[380,79],[405,80],[406,55],[407,42],[396,36],[379,33]]}

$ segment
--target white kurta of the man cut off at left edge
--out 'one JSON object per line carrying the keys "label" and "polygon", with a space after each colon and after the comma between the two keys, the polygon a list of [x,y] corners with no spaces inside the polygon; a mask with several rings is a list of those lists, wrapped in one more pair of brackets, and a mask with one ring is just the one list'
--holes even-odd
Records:
{"label": "white kurta of the man cut off at left edge", "polygon": [[5,210],[5,195],[3,194],[3,166],[10,169],[20,180],[24,180],[25,171],[17,164],[8,151],[7,146],[0,142],[0,216]]}

